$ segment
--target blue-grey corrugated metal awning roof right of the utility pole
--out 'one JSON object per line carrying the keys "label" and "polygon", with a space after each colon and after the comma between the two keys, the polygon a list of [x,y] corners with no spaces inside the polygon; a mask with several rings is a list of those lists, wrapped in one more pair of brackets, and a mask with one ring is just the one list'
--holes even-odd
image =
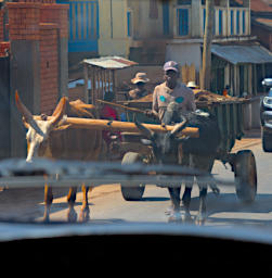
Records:
{"label": "blue-grey corrugated metal awning roof right of the utility pole", "polygon": [[261,46],[212,45],[211,52],[232,64],[272,63],[272,53]]}

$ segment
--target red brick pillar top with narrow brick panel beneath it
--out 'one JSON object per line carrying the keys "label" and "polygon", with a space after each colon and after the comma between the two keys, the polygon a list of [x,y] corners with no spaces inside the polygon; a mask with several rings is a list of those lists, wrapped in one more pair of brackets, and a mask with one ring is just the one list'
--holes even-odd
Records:
{"label": "red brick pillar top with narrow brick panel beneath it", "polygon": [[68,38],[68,5],[54,0],[25,0],[8,3],[11,42],[39,41],[40,112],[51,114],[59,99],[59,41]]}

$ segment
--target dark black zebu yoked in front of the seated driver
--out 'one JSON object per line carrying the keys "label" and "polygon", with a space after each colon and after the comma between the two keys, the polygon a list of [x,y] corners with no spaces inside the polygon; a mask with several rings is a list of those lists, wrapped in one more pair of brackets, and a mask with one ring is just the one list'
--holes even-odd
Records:
{"label": "dark black zebu yoked in front of the seated driver", "polygon": [[[172,131],[166,134],[156,134],[142,124],[135,121],[140,131],[148,139],[142,140],[144,144],[150,144],[153,148],[154,159],[161,164],[182,164],[191,166],[207,173],[210,173],[217,154],[217,149],[220,143],[220,130],[215,116],[203,112],[191,112],[182,114],[178,111],[174,103],[169,103],[163,118],[163,124],[176,124]],[[178,138],[177,135],[189,127],[198,127],[198,138]],[[192,180],[193,181],[193,180]],[[216,186],[210,184],[213,190]],[[197,224],[203,224],[206,218],[206,195],[208,185],[199,184],[199,210],[196,217]],[[170,220],[180,219],[180,190],[181,187],[168,187],[170,199],[172,202],[172,214]],[[185,186],[183,194],[183,204],[185,208],[185,220],[191,219],[190,202],[191,202],[192,185]]]}

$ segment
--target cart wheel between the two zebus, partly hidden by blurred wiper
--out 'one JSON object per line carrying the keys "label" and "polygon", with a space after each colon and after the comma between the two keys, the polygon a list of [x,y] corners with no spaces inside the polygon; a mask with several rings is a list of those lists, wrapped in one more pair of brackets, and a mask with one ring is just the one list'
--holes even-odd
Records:
{"label": "cart wheel between the two zebus, partly hidden by blurred wiper", "polygon": [[[142,157],[137,152],[127,152],[121,161],[121,164],[132,164],[135,162],[142,162]],[[126,201],[140,201],[143,197],[145,185],[140,184],[134,187],[126,187],[126,182],[121,184],[121,194]]]}

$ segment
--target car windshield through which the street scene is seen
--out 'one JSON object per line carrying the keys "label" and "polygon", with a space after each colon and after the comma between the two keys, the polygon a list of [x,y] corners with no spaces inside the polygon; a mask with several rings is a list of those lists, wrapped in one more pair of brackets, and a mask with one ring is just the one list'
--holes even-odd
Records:
{"label": "car windshield through which the street scene is seen", "polygon": [[269,235],[272,55],[254,9],[0,0],[0,223]]}

